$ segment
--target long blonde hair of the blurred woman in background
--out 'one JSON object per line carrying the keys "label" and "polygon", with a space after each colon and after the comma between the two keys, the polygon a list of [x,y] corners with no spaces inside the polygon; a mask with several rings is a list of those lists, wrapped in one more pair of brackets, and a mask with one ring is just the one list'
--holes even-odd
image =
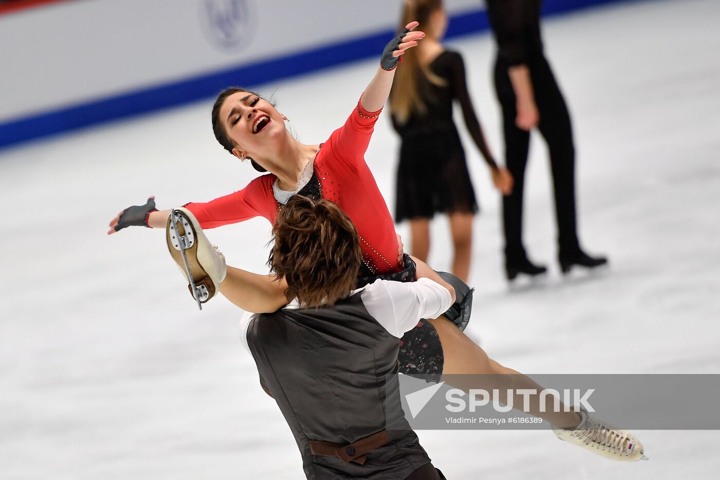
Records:
{"label": "long blonde hair of the blurred woman in background", "polygon": [[[442,0],[405,0],[400,28],[417,20],[422,30],[428,24],[431,14],[442,8]],[[390,92],[390,112],[398,123],[406,123],[413,113],[423,115],[428,111],[423,99],[423,78],[437,86],[447,85],[447,81],[433,74],[428,66],[420,65],[417,48],[410,48],[402,55],[402,65],[395,71],[395,81]]]}

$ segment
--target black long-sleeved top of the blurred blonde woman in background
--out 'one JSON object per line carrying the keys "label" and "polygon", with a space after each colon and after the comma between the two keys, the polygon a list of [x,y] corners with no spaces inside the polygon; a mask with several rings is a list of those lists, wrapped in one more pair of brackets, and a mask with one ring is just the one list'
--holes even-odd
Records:
{"label": "black long-sleeved top of the blurred blonde woman in background", "polygon": [[446,130],[454,128],[452,120],[452,102],[457,99],[462,107],[462,115],[465,120],[465,126],[472,136],[472,140],[477,148],[485,157],[487,164],[492,168],[497,168],[495,160],[492,159],[490,148],[487,148],[485,135],[482,134],[480,121],[477,120],[475,110],[472,107],[472,100],[467,91],[467,81],[465,79],[465,64],[462,56],[454,51],[445,50],[438,55],[429,65],[433,74],[447,81],[444,86],[438,86],[421,77],[420,91],[423,92],[423,99],[428,106],[428,112],[424,115],[412,113],[408,121],[404,124],[398,123],[395,117],[392,117],[392,126],[395,127],[400,136],[411,135],[413,133],[430,133],[432,130]]}

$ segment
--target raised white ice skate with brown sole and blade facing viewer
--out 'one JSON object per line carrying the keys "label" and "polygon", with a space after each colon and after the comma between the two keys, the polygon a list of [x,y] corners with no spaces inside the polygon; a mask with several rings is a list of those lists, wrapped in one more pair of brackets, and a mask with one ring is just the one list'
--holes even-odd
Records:
{"label": "raised white ice skate with brown sole and blade facing viewer", "polygon": [[166,232],[168,250],[202,310],[202,303],[214,297],[225,280],[225,257],[207,241],[197,218],[186,208],[171,210]]}

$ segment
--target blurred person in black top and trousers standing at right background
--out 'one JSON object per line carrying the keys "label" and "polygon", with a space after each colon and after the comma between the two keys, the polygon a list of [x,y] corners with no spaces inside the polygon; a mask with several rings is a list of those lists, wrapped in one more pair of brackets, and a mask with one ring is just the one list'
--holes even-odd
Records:
{"label": "blurred person in black top and trousers standing at right background", "polygon": [[558,231],[558,261],[563,273],[574,265],[598,267],[605,257],[590,257],[577,239],[575,221],[575,147],[565,100],[543,55],[541,0],[486,0],[487,15],[498,43],[495,91],[503,110],[505,164],[513,175],[513,192],[503,198],[505,273],[539,275],[522,241],[523,187],[530,131],[540,130],[549,149]]}

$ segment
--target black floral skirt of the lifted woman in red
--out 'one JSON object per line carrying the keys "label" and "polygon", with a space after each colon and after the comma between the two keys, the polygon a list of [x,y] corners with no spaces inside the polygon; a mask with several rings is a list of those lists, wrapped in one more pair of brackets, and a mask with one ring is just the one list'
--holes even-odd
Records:
{"label": "black floral skirt of the lifted woman in red", "polygon": [[[362,275],[362,273],[361,273]],[[358,288],[375,280],[393,280],[396,282],[415,281],[415,262],[405,254],[405,268],[400,272],[387,275],[367,275],[358,278]],[[443,373],[443,346],[435,326],[427,320],[420,320],[410,332],[400,339],[397,352],[397,366],[405,375],[423,375],[426,381],[440,381]]]}

